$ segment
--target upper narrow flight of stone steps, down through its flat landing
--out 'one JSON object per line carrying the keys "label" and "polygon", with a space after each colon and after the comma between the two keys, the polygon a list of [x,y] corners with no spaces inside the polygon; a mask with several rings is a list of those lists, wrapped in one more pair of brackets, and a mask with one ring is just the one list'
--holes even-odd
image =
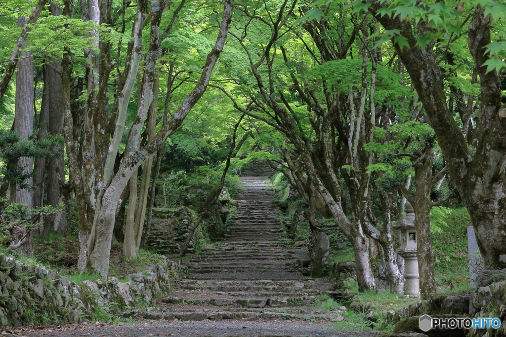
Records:
{"label": "upper narrow flight of stone steps, down through its flat landing", "polygon": [[307,252],[289,248],[279,235],[272,185],[264,177],[241,177],[241,182],[243,197],[236,200],[237,215],[225,239],[215,244],[214,252],[192,260],[191,278],[240,284],[244,280],[306,280],[297,266],[308,259]]}

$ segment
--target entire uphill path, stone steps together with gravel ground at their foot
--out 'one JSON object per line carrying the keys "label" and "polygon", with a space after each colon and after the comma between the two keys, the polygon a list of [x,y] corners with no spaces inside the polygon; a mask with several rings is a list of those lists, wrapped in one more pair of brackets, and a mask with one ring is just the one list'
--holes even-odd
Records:
{"label": "entire uphill path, stone steps together with gravel ground at their foot", "polygon": [[[252,172],[257,173],[257,172]],[[257,173],[260,174],[260,173]],[[264,177],[241,177],[244,191],[225,238],[192,258],[189,279],[174,280],[160,307],[147,308],[141,323],[123,326],[80,324],[24,332],[54,336],[377,336],[377,331],[336,330],[343,311],[315,309],[329,280],[299,271],[302,248],[283,239],[272,185]],[[338,308],[340,309],[340,308]],[[344,310],[345,308],[341,308]],[[346,324],[346,323],[345,323]]]}

